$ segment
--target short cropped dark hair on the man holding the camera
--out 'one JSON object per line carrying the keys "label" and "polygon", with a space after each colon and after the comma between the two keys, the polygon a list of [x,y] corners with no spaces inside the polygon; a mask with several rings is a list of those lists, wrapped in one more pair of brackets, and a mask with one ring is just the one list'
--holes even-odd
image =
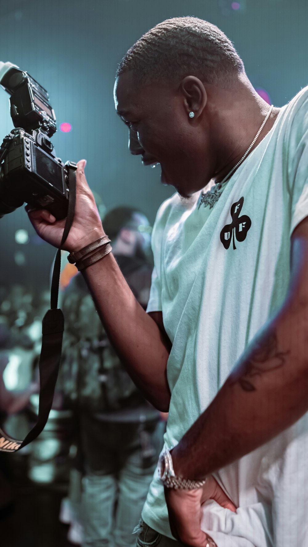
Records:
{"label": "short cropped dark hair on the man holding the camera", "polygon": [[224,86],[245,69],[233,43],[216,25],[196,17],[176,17],[153,27],[127,51],[117,77],[127,71],[144,84],[157,79],[181,82],[194,75]]}

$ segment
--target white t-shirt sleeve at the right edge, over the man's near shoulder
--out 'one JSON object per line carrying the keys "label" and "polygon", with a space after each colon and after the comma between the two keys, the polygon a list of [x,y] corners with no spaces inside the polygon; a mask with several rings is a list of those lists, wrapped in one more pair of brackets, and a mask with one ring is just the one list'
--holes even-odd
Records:
{"label": "white t-shirt sleeve at the right edge, over the man's near shoulder", "polygon": [[[300,103],[300,104],[297,104]],[[290,193],[290,235],[308,217],[308,88],[295,102],[288,138],[288,190]]]}

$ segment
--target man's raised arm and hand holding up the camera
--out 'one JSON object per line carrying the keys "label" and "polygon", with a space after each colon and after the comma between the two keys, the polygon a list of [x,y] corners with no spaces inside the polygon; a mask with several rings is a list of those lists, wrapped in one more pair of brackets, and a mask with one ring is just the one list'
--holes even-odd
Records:
{"label": "man's raised arm and hand holding up the camera", "polygon": [[[69,252],[79,251],[104,235],[84,167],[85,161],[79,161],[75,216],[64,246]],[[65,219],[55,220],[48,211],[28,206],[26,211],[38,235],[59,247]],[[150,403],[167,411],[170,390],[166,368],[171,344],[162,326],[158,326],[159,318],[156,323],[138,304],[112,254],[83,272],[104,329],[128,373]]]}

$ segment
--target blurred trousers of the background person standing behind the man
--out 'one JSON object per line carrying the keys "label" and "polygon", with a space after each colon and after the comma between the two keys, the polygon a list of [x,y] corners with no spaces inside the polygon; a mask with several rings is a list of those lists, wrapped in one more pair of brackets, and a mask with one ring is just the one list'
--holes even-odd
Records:
{"label": "blurred trousers of the background person standing behind the man", "polygon": [[[109,423],[85,416],[81,423],[83,547],[132,547],[132,530],[163,444],[164,423]],[[148,454],[142,447],[142,435],[152,445]]]}

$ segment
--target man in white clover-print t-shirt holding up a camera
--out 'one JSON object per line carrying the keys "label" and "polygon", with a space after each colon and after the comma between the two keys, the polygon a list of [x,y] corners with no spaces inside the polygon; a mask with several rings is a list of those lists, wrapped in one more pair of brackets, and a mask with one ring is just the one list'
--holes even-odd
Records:
{"label": "man in white clover-print t-shirt holding up a camera", "polygon": [[[140,545],[308,542],[307,95],[270,108],[233,44],[195,18],[156,25],[118,69],[131,152],[160,162],[177,190],[153,230],[147,314],[112,254],[83,270],[130,375],[169,409],[173,450],[150,486]],[[69,251],[104,234],[84,165]],[[30,218],[60,245],[63,221]]]}

